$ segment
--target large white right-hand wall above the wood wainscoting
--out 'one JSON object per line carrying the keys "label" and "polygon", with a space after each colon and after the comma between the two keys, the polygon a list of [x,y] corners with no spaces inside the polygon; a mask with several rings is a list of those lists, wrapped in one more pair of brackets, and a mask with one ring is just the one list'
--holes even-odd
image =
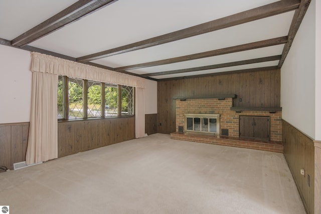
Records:
{"label": "large white right-hand wall above the wood wainscoting", "polygon": [[[315,139],[315,0],[281,68],[282,118]],[[320,118],[321,119],[321,118]]]}

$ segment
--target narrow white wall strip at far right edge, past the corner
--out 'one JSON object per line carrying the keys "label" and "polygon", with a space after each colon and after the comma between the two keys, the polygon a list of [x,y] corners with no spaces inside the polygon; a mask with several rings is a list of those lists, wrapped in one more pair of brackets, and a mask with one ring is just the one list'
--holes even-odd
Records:
{"label": "narrow white wall strip at far right edge, past the corner", "polygon": [[321,1],[315,1],[315,140],[321,140]]}

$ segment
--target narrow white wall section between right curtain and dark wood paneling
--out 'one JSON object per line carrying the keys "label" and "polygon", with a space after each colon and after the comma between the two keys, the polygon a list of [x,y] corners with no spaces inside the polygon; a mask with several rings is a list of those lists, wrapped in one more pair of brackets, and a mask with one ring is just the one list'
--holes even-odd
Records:
{"label": "narrow white wall section between right curtain and dark wood paneling", "polygon": [[146,80],[145,114],[157,114],[157,82]]}

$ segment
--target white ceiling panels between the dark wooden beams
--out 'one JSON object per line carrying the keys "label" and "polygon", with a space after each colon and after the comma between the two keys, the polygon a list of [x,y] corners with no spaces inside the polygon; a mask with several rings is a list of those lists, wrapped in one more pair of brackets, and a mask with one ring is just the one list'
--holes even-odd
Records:
{"label": "white ceiling panels between the dark wooden beams", "polygon": [[[72,0],[0,1],[0,38],[11,41],[75,2]],[[274,2],[277,1],[118,0],[28,45],[78,58],[161,36]],[[294,11],[290,11],[91,62],[117,68],[283,37],[288,35],[293,15]],[[275,56],[282,54],[283,47],[284,45],[276,45],[185,62],[138,68],[127,70],[127,72],[141,75]],[[175,78],[277,65],[278,60],[204,71],[151,76],[151,78]]]}

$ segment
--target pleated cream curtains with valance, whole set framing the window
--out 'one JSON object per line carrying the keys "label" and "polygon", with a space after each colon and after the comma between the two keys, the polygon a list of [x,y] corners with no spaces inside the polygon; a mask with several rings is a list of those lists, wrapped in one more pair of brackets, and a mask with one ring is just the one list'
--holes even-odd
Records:
{"label": "pleated cream curtains with valance, whole set framing the window", "polygon": [[26,163],[58,157],[58,75],[135,87],[136,138],[144,136],[145,79],[36,52],[31,53],[32,110]]}

